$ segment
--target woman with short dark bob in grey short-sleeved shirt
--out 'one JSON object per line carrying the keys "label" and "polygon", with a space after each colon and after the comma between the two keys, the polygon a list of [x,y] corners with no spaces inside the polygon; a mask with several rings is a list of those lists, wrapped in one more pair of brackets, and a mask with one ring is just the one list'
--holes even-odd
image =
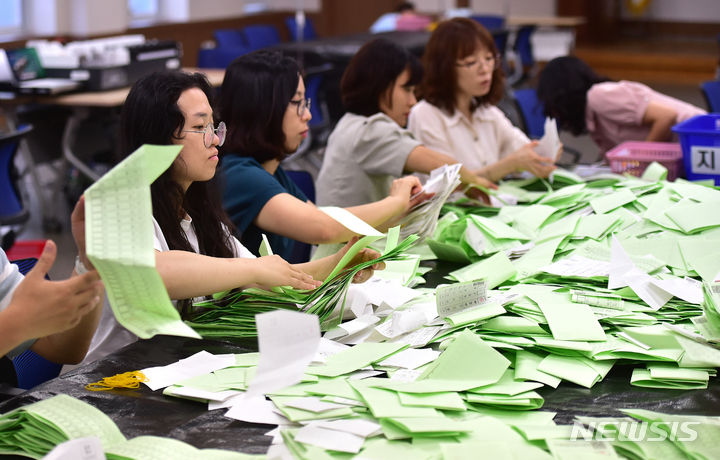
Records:
{"label": "woman with short dark bob in grey short-sleeved shirt", "polygon": [[[370,203],[385,196],[403,173],[429,173],[457,163],[405,129],[421,76],[418,59],[387,39],[368,42],[353,56],[340,83],[347,113],[328,138],[317,180],[318,204]],[[465,167],[460,179],[494,188]]]}

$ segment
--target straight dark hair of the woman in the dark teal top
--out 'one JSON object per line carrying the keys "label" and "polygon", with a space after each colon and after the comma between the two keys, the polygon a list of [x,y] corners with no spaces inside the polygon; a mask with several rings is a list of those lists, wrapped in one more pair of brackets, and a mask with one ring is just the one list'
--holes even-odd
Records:
{"label": "straight dark hair of the woman in the dark teal top", "polygon": [[235,59],[225,71],[218,112],[228,127],[223,153],[282,160],[282,124],[297,91],[300,68],[276,51],[256,51]]}

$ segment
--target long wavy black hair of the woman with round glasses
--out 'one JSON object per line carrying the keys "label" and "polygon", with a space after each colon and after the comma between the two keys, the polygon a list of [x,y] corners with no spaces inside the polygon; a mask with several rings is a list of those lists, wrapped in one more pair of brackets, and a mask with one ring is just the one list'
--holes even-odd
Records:
{"label": "long wavy black hair of the woman with round glasses", "polygon": [[[179,139],[185,116],[177,105],[180,95],[199,88],[212,104],[212,88],[203,74],[156,72],[138,80],[125,100],[120,116],[123,157],[143,144],[169,145]],[[175,160],[173,167],[181,161]],[[193,182],[183,194],[168,168],[150,186],[153,216],[170,249],[193,251],[180,220],[187,212],[193,220],[200,253],[213,257],[234,257],[230,234],[233,226],[222,209],[220,193],[213,178]]]}

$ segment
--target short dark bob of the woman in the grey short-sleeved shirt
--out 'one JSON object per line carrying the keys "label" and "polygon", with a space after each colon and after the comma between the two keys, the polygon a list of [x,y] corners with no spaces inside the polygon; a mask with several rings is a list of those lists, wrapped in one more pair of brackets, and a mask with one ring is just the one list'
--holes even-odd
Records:
{"label": "short dark bob of the woman in the grey short-sleeved shirt", "polygon": [[415,55],[384,38],[365,43],[350,60],[340,81],[345,108],[369,117],[380,112],[380,98],[392,102],[392,87],[404,70],[410,71],[405,86],[415,86],[422,79],[422,66]]}

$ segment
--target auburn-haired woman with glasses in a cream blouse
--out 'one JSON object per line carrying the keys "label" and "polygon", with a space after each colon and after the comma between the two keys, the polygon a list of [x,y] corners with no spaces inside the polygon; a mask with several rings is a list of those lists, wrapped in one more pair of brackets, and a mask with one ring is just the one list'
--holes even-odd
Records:
{"label": "auburn-haired woman with glasses in a cream blouse", "polygon": [[478,22],[454,18],[430,36],[423,56],[424,100],[408,129],[430,148],[495,182],[523,170],[547,177],[555,166],[498,109],[505,78],[492,35]]}

